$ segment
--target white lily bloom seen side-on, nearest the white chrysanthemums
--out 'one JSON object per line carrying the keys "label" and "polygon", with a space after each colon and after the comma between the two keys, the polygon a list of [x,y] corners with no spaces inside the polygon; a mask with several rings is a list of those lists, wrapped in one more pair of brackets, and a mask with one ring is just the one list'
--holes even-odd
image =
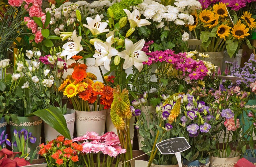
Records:
{"label": "white lily bloom seen side-on, nearest the white chrysanthemums", "polygon": [[127,14],[127,18],[130,22],[131,28],[147,26],[151,24],[146,19],[140,19],[140,12],[137,9],[134,9],[132,13],[129,10],[124,9],[124,12]]}

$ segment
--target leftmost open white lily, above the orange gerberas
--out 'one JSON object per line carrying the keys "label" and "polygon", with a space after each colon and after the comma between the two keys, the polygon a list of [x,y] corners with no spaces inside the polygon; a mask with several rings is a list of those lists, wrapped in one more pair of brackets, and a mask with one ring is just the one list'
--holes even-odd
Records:
{"label": "leftmost open white lily, above the orange gerberas", "polygon": [[72,56],[83,50],[83,46],[80,44],[82,36],[76,36],[76,30],[74,30],[72,35],[73,42],[67,42],[62,46],[65,50],[61,52],[60,56],[67,56],[67,60]]}

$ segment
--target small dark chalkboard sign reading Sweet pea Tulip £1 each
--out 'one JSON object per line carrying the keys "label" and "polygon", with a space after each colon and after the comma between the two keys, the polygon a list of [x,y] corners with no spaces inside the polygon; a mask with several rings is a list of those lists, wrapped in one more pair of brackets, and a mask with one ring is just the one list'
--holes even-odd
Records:
{"label": "small dark chalkboard sign reading Sweet pea Tulip \u00a31 each", "polygon": [[175,154],[190,148],[188,141],[184,138],[172,138],[156,144],[161,154]]}

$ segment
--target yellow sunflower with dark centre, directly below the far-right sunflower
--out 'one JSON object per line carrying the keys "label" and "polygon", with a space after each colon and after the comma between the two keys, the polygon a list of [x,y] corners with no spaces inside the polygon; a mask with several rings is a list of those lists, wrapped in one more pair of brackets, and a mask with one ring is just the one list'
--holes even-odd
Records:
{"label": "yellow sunflower with dark centre, directly below the far-right sunflower", "polygon": [[241,20],[238,20],[238,22],[234,25],[234,28],[232,28],[231,33],[234,37],[237,39],[244,38],[245,36],[249,36],[248,33],[249,28],[246,28],[244,24],[241,23]]}

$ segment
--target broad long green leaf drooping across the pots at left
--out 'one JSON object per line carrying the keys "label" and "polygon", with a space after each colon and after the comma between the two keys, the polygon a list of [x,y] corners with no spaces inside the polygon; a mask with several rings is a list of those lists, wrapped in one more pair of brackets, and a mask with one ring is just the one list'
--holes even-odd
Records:
{"label": "broad long green leaf drooping across the pots at left", "polygon": [[39,116],[45,123],[54,128],[61,135],[70,139],[70,132],[68,131],[66,120],[58,108],[51,107],[41,109],[33,112],[32,114]]}

